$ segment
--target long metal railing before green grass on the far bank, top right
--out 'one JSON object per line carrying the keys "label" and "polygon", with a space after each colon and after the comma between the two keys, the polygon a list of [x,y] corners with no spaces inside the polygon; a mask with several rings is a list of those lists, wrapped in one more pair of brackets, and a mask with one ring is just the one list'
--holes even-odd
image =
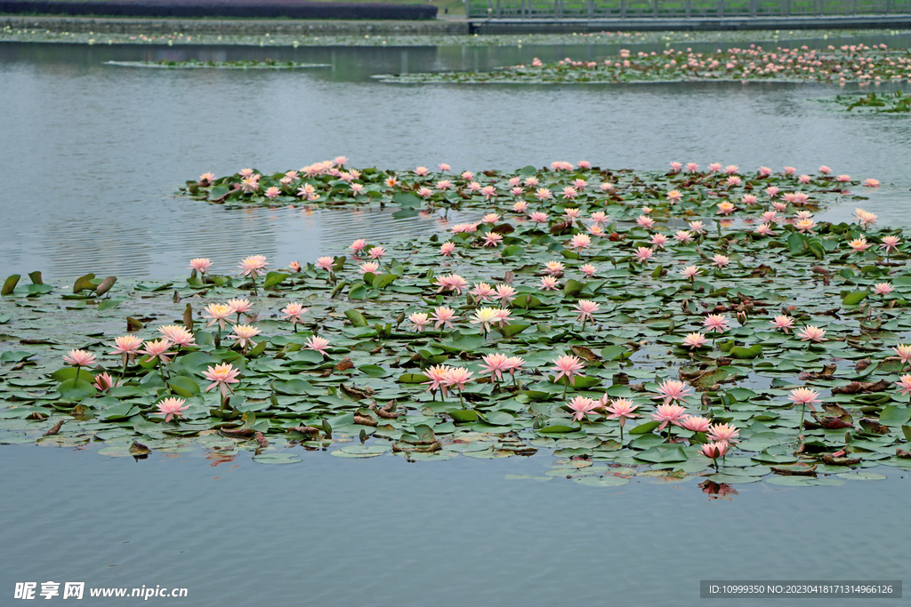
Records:
{"label": "long metal railing before green grass on the far bank, top right", "polygon": [[468,18],[625,19],[909,15],[911,0],[466,0]]}

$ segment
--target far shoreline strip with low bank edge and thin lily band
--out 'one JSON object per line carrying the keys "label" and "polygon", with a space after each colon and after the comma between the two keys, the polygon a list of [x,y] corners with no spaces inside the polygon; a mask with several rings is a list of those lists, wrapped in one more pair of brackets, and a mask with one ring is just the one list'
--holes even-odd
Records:
{"label": "far shoreline strip with low bank edge and thin lily band", "polygon": [[[235,28],[235,29],[231,29]],[[246,28],[246,29],[242,29]],[[205,31],[210,33],[200,33]],[[279,19],[146,19],[0,15],[0,43],[143,46],[637,46],[775,45],[801,41],[854,44],[899,37],[911,29],[598,32],[589,34],[467,34],[464,20],[302,21]],[[872,44],[872,43],[870,43]],[[895,46],[892,42],[889,46]]]}

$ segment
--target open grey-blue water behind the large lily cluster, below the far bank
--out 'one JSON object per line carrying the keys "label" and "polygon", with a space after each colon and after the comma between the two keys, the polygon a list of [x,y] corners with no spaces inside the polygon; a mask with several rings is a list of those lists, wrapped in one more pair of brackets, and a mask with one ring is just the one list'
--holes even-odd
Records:
{"label": "open grey-blue water behind the large lily cluster, below the far bank", "polygon": [[[577,49],[578,50],[578,49]],[[558,56],[574,49],[551,49]],[[295,58],[331,69],[143,70],[109,59],[162,53]],[[283,56],[277,53],[284,53]],[[184,179],[242,167],[302,167],[344,154],[358,167],[545,166],[588,159],[663,170],[670,160],[876,177],[865,207],[909,225],[911,121],[853,116],[812,98],[831,86],[390,86],[364,78],[527,55],[516,47],[298,48],[0,45],[0,256],[42,269],[170,277],[191,257],[221,268],[262,253],[278,264],[338,254],[355,237],[439,229],[388,212],[233,210],[172,193]],[[594,51],[593,51],[594,52]],[[539,53],[537,53],[539,54]],[[889,184],[895,184],[890,189]],[[853,207],[852,207],[853,208]]]}

